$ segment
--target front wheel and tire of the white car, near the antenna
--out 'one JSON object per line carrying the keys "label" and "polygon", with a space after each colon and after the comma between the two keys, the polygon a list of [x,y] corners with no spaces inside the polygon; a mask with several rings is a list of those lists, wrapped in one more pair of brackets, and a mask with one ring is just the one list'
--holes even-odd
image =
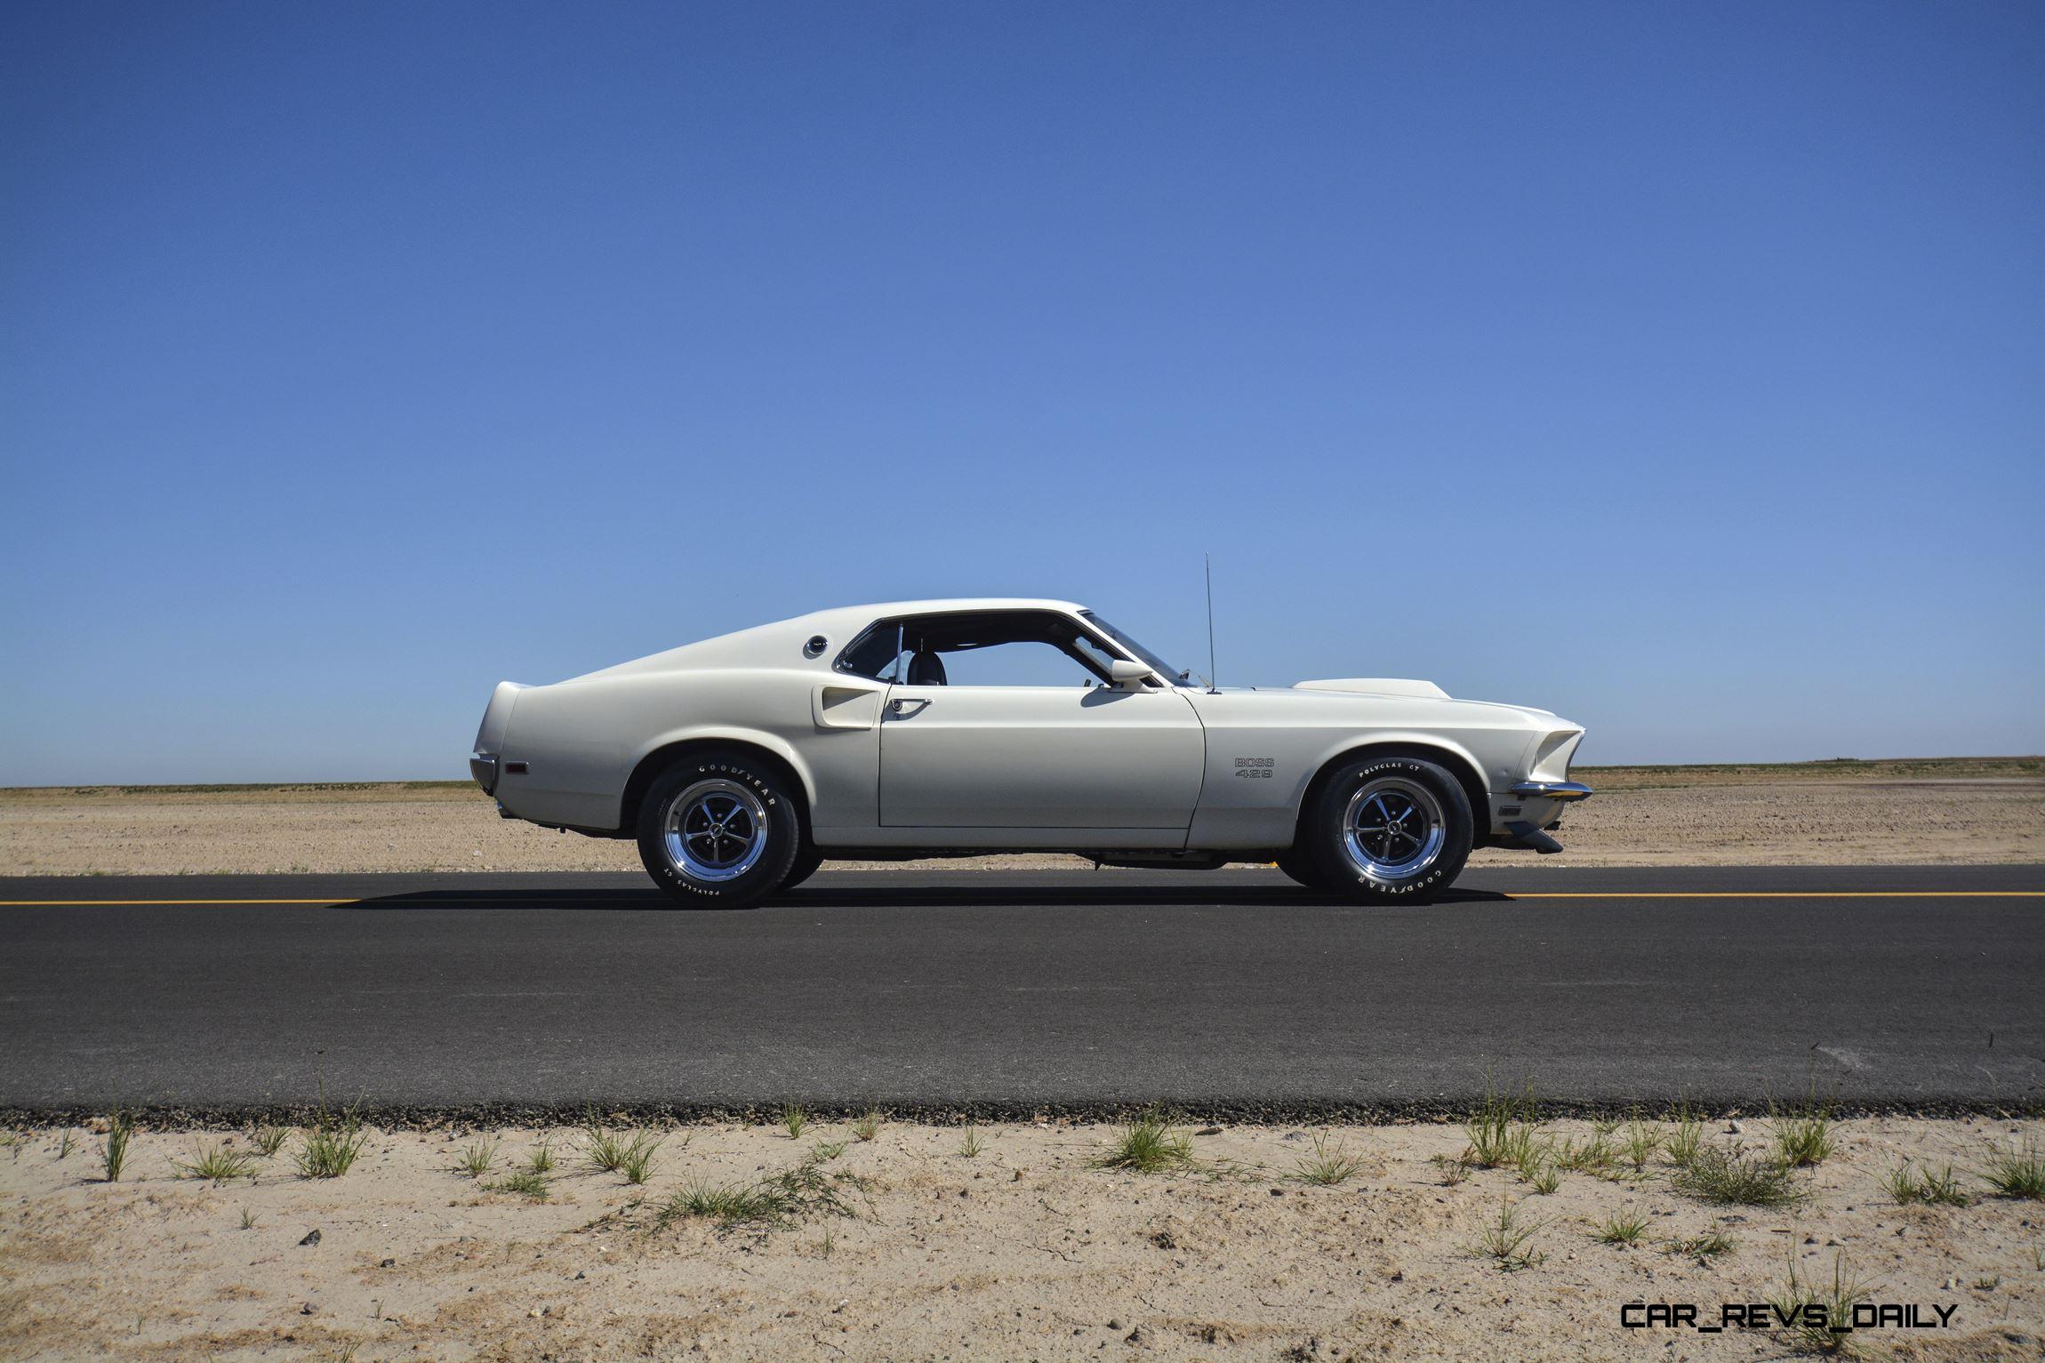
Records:
{"label": "front wheel and tire of the white car, near the antenna", "polygon": [[1470,797],[1434,762],[1364,758],[1321,783],[1305,834],[1335,893],[1429,903],[1470,858]]}

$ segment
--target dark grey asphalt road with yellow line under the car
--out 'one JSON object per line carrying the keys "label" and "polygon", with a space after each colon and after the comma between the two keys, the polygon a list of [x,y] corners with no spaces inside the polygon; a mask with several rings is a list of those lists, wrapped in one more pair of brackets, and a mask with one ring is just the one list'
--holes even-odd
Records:
{"label": "dark grey asphalt road with yellow line under the car", "polygon": [[[61,903],[22,903],[22,901]],[[233,903],[233,901],[290,903]],[[0,1112],[2045,1097],[2045,866],[0,879]],[[112,903],[92,903],[112,901]],[[141,903],[178,901],[178,903]],[[305,903],[297,903],[305,901]]]}

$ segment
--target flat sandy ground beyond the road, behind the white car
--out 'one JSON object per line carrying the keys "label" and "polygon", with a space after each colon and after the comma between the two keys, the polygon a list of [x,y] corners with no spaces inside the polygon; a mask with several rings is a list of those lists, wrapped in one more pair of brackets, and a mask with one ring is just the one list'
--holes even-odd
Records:
{"label": "flat sandy ground beyond the road, behind the white car", "polygon": [[[1479,852],[1472,864],[2045,860],[2039,758],[1579,774],[1599,795],[1569,811],[1556,834],[1564,854]],[[1086,862],[1018,856],[998,864]],[[624,842],[501,819],[462,785],[0,791],[0,875],[292,871],[636,873],[638,856]]]}

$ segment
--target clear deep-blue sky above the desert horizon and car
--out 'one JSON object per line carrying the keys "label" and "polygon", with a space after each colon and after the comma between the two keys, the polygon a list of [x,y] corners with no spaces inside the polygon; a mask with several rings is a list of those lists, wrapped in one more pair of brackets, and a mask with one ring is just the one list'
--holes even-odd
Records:
{"label": "clear deep-blue sky above the desert horizon and car", "polygon": [[1057,595],[1587,762],[2045,750],[2035,4],[16,4],[0,783]]}

